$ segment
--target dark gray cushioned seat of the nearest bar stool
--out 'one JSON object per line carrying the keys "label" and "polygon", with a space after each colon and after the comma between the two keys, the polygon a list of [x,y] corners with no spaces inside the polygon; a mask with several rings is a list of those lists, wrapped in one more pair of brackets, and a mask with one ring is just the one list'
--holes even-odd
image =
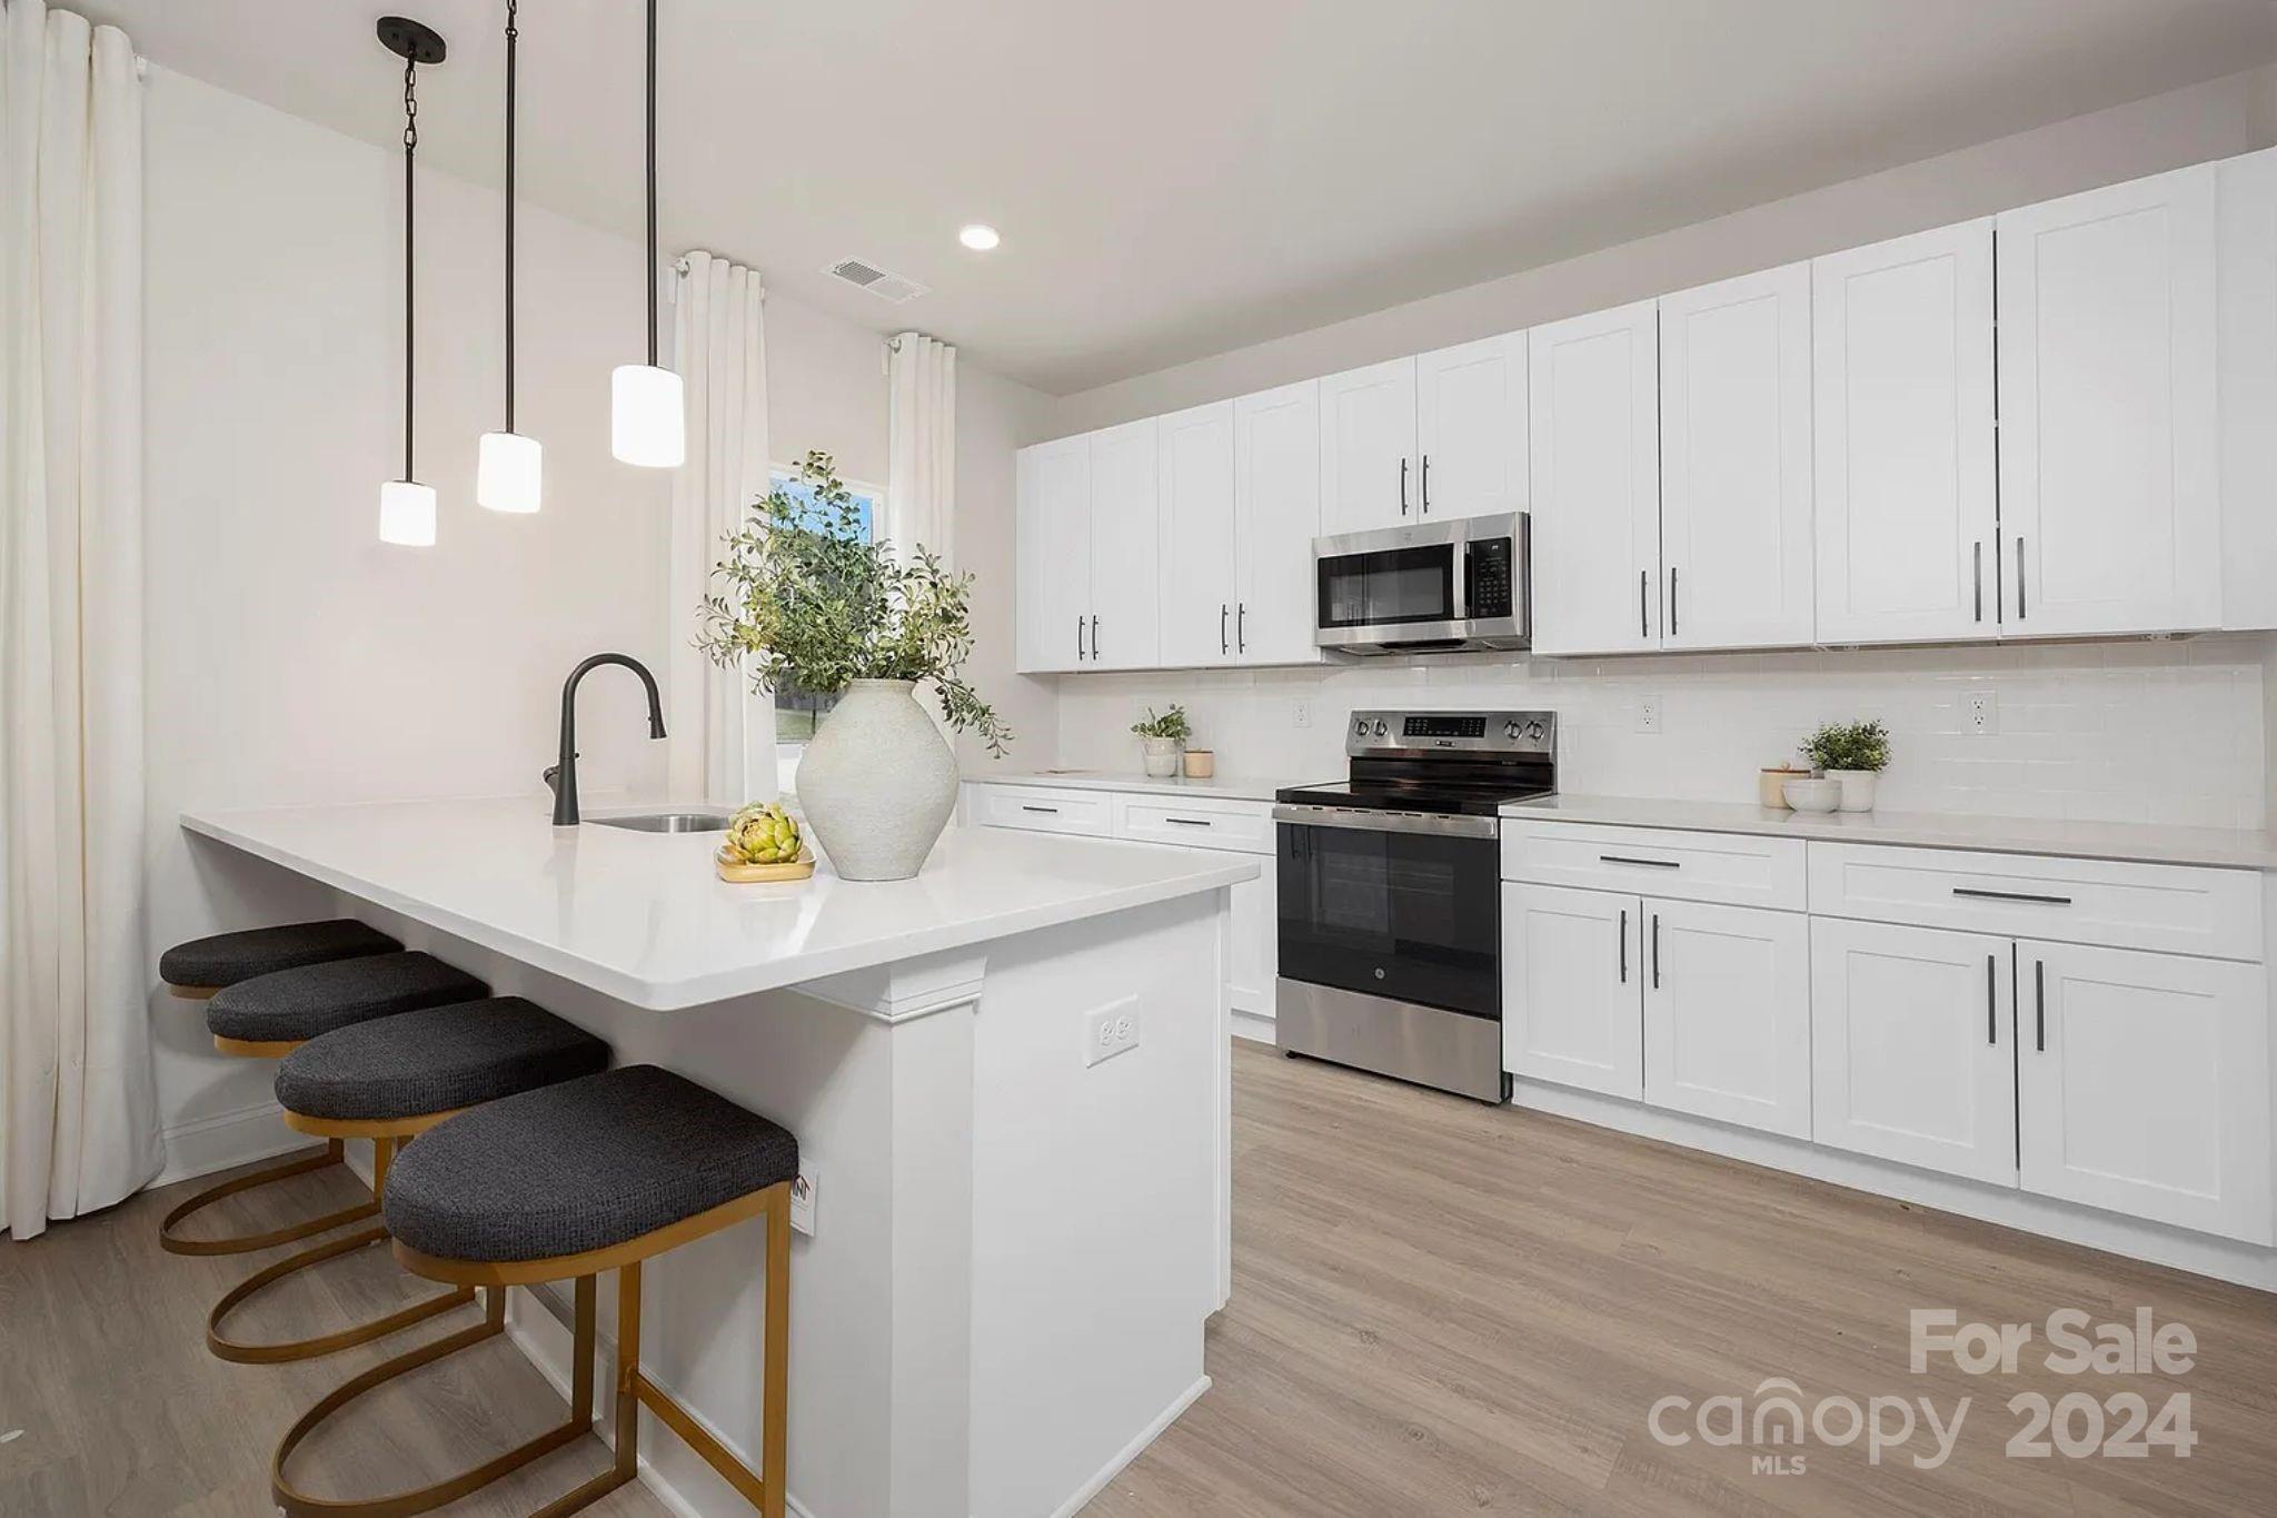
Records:
{"label": "dark gray cushioned seat of the nearest bar stool", "polygon": [[799,1172],[799,1140],[694,1081],[626,1065],[439,1122],[387,1174],[387,1229],[421,1254],[606,1249]]}

